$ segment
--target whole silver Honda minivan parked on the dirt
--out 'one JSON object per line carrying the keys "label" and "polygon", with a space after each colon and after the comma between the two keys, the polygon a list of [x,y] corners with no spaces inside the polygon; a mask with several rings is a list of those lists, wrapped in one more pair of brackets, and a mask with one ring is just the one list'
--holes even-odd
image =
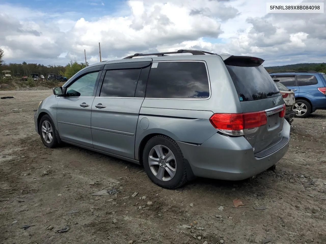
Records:
{"label": "whole silver Honda minivan parked on the dirt", "polygon": [[164,188],[196,176],[243,180],[289,147],[285,104],[263,61],[199,50],[102,61],[53,88],[35,129],[47,147],[140,164]]}

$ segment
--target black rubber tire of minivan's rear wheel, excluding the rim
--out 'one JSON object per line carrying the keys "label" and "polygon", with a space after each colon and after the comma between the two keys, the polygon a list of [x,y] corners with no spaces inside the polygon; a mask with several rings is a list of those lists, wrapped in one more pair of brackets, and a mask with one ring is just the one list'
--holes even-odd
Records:
{"label": "black rubber tire of minivan's rear wheel, excluding the rim", "polygon": [[[169,181],[162,181],[156,178],[149,166],[149,153],[151,149],[156,145],[163,145],[164,147],[167,147],[175,157],[176,172],[174,177]],[[175,189],[181,187],[187,182],[186,164],[183,154],[178,144],[168,136],[159,135],[151,138],[144,147],[142,160],[146,174],[152,182],[160,187],[166,189]]]}

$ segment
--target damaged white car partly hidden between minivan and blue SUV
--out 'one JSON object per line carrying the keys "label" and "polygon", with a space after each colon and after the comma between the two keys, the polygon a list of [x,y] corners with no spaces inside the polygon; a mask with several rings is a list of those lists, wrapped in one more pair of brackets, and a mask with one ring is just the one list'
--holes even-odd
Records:
{"label": "damaged white car partly hidden between minivan and blue SUV", "polygon": [[278,79],[274,79],[275,84],[277,88],[280,90],[283,100],[286,105],[286,112],[285,112],[285,119],[289,122],[289,124],[292,124],[293,117],[295,115],[295,112],[292,110],[294,104],[295,104],[295,98],[294,98],[294,92],[291,91],[289,88],[284,86],[282,83],[280,83]]}

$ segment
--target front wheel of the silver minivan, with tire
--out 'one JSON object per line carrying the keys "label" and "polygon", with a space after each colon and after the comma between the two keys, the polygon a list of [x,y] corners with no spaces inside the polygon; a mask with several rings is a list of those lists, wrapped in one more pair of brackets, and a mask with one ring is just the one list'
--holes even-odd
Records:
{"label": "front wheel of the silver minivan, with tire", "polygon": [[57,147],[59,143],[51,117],[49,115],[43,115],[38,126],[43,144],[49,148]]}

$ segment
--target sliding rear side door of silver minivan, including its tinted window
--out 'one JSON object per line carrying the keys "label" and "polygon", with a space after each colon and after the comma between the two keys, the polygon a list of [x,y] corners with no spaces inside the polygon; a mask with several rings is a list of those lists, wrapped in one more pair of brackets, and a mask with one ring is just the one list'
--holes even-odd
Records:
{"label": "sliding rear side door of silver minivan, including its tinted window", "polygon": [[105,65],[104,69],[107,70],[103,71],[103,74],[106,72],[103,84],[92,105],[95,149],[135,158],[136,127],[144,101],[150,63],[135,62],[134,67],[130,62],[126,62],[126,67],[125,63]]}

